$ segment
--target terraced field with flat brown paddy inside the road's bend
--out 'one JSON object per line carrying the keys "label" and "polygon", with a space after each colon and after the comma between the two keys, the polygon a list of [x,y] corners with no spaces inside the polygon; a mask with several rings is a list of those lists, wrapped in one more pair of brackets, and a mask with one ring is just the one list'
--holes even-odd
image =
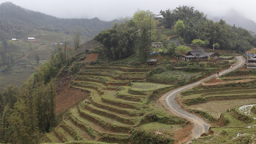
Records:
{"label": "terraced field with flat brown paddy inside the road's bend", "polygon": [[191,89],[182,92],[180,99],[188,108],[208,112],[218,119],[227,109],[255,102],[256,87]]}

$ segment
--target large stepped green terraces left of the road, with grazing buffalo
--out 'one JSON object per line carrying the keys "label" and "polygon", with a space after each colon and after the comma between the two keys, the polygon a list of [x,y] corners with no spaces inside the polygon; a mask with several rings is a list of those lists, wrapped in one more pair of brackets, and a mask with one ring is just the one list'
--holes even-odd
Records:
{"label": "large stepped green terraces left of the road, with grazing buffalo", "polygon": [[[90,91],[85,100],[69,110],[70,116],[53,132],[46,134],[52,142],[95,140],[126,143],[128,133],[148,113],[149,92],[130,93],[132,81],[144,81],[150,68],[84,67],[71,87]],[[138,82],[139,83],[139,82]],[[140,82],[141,83],[141,82]],[[133,92],[136,91],[133,90]]]}

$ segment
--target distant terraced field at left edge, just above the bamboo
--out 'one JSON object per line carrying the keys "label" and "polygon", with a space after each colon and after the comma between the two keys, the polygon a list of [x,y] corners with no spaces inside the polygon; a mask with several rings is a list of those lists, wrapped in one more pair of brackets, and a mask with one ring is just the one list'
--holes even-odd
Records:
{"label": "distant terraced field at left edge, just above the bamboo", "polygon": [[9,75],[0,74],[0,87],[6,88],[10,84],[16,84],[17,87],[20,87],[22,85],[22,82],[28,79],[33,73],[34,71],[24,71]]}

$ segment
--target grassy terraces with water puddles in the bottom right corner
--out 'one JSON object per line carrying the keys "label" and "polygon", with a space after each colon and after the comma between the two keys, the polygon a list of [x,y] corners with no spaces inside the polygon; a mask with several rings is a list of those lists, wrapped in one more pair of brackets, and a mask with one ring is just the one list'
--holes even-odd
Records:
{"label": "grassy terraces with water puddles in the bottom right corner", "polygon": [[255,141],[256,121],[255,114],[252,112],[253,107],[247,108],[246,114],[239,110],[241,107],[247,108],[248,105],[238,105],[231,111],[221,114],[216,126],[210,127],[211,135],[200,137],[194,143],[252,143]]}

